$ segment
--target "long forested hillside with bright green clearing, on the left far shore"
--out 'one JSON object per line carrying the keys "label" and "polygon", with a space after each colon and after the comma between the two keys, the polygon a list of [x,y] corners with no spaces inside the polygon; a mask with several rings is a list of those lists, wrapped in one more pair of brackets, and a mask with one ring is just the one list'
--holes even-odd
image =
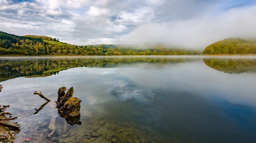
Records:
{"label": "long forested hillside with bright green clearing, on the left far shore", "polygon": [[17,36],[0,31],[0,55],[197,55],[200,51],[170,49],[165,46],[148,49],[127,48],[122,45],[76,46],[49,36]]}

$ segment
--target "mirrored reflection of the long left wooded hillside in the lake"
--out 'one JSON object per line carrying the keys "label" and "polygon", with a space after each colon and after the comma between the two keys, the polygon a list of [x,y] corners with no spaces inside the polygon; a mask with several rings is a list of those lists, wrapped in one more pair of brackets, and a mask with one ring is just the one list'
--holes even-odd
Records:
{"label": "mirrored reflection of the long left wooded hillside in the lake", "polygon": [[186,59],[179,58],[31,58],[0,60],[0,82],[17,77],[48,77],[59,71],[75,67],[113,68],[129,63],[180,63]]}

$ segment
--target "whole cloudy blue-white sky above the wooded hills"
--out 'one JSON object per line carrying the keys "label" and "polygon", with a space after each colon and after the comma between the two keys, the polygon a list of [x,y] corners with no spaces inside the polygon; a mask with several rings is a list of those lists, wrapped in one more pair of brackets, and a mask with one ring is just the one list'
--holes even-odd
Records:
{"label": "whole cloudy blue-white sky above the wooded hills", "polygon": [[202,49],[224,38],[256,38],[256,0],[0,0],[0,31],[75,45]]}

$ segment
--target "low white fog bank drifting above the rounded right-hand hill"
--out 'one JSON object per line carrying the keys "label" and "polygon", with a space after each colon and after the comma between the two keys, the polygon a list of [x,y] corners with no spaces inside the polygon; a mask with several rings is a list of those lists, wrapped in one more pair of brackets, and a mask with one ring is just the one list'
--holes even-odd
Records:
{"label": "low white fog bank drifting above the rounded right-hand hill", "polygon": [[234,9],[218,16],[203,16],[165,23],[146,23],[124,35],[122,43],[164,41],[185,48],[199,48],[225,38],[256,37],[256,6]]}

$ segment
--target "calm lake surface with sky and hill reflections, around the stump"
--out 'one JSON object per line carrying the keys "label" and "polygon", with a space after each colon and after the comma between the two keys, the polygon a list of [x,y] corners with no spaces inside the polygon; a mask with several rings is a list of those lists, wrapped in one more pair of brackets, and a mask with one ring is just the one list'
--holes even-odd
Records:
{"label": "calm lake surface with sky and hill reflections, around the stump", "polygon": [[[18,143],[256,140],[254,56],[0,57],[0,84],[0,105],[21,125]],[[60,87],[82,100],[81,125],[59,116]]]}

